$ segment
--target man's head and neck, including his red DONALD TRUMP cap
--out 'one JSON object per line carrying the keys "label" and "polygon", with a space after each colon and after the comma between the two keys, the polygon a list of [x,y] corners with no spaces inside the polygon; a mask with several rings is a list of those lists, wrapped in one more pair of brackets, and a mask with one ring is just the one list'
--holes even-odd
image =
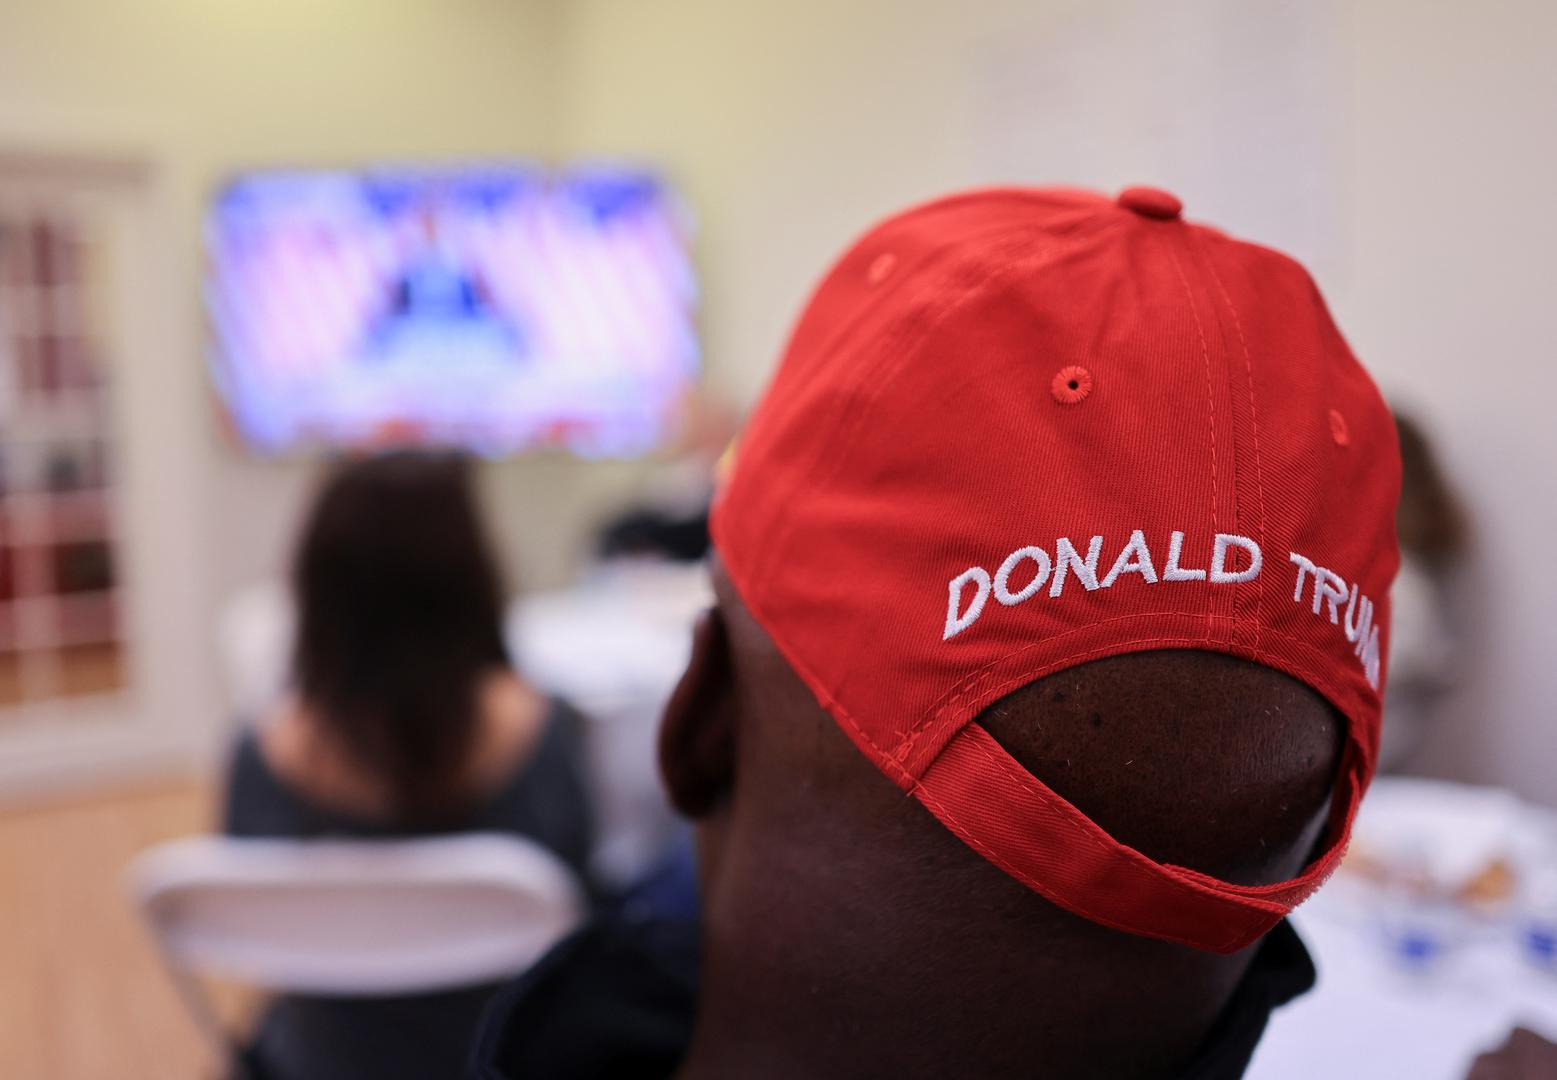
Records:
{"label": "man's head and neck, including his red DONALD TRUMP cap", "polygon": [[1372,775],[1397,490],[1308,275],[1172,196],[873,229],[738,448],[666,714],[712,968],[858,979],[849,1030],[906,977],[1020,1049],[990,996],[1048,977],[1204,1033]]}

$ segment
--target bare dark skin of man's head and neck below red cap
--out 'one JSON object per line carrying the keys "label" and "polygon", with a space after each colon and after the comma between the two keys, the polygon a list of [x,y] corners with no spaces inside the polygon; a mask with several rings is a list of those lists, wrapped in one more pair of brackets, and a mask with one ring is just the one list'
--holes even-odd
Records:
{"label": "bare dark skin of man's head and neck below red cap", "polygon": [[[660,736],[704,898],[677,1075],[1172,1075],[1253,949],[1110,931],[1007,878],[877,772],[713,577]],[[1121,842],[1246,884],[1308,862],[1344,730],[1302,683],[1208,652],[1082,664],[976,722]]]}

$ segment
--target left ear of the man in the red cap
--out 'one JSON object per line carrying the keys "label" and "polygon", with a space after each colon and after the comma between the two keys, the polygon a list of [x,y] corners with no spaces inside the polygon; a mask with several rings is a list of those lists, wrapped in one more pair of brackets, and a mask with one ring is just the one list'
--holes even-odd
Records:
{"label": "left ear of the man in the red cap", "polygon": [[719,608],[698,619],[691,660],[665,705],[660,775],[691,819],[707,817],[735,783],[735,679]]}

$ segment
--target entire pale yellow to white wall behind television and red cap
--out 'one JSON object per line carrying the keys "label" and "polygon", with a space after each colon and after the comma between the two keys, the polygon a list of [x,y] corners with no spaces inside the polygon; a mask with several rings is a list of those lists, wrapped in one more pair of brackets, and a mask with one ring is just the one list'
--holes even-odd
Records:
{"label": "entire pale yellow to white wall behind television and red cap", "polygon": [[[1308,67],[1283,67],[1291,50],[1249,36],[1239,11],[1306,12]],[[1191,216],[1269,240],[1291,230],[1285,199],[1309,198],[1331,223],[1316,266],[1341,324],[1437,431],[1476,517],[1473,650],[1432,755],[1557,801],[1557,563],[1540,556],[1557,534],[1554,36],[1557,8],[1538,0],[0,0],[0,143],[126,148],[157,170],[167,349],[135,378],[165,409],[142,450],[171,470],[167,514],[187,526],[167,529],[165,557],[198,601],[168,621],[195,683],[212,682],[212,612],[280,565],[308,481],[224,448],[204,400],[196,229],[235,167],[662,163],[701,223],[710,381],[738,401],[827,260],[911,199],[998,179],[1158,181]],[[1286,79],[1306,126],[1241,112],[1236,90],[1177,107],[1183,79],[1160,78],[1163,58],[1200,53],[1205,70],[1180,76]],[[1288,160],[1299,135],[1322,190],[1278,173],[1267,202],[1258,167]],[[641,472],[494,470],[529,580],[562,579],[587,523]],[[198,691],[209,724],[216,693]]]}

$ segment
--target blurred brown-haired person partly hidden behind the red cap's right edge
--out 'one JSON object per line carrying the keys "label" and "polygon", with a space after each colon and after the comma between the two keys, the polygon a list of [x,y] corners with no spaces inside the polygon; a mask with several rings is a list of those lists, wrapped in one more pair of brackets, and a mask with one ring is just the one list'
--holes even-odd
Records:
{"label": "blurred brown-haired person partly hidden behind the red cap's right edge", "polygon": [[1470,526],[1432,444],[1411,416],[1397,411],[1400,434],[1400,573],[1390,591],[1394,638],[1380,767],[1411,770],[1436,713],[1459,674],[1460,636],[1450,596],[1470,546]]}

